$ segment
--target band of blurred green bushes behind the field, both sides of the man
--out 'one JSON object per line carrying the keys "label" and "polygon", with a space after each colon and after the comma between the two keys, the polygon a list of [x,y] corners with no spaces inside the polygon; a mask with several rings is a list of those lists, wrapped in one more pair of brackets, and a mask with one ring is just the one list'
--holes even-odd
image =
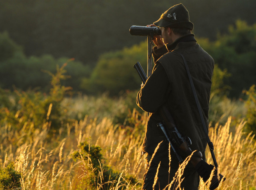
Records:
{"label": "band of blurred green bushes behind the field, both sides of the man", "polygon": [[[248,25],[238,20],[229,32],[217,36],[217,40],[196,38],[197,42],[215,59],[212,90],[230,97],[241,97],[256,82],[256,24]],[[87,94],[108,91],[115,96],[126,90],[140,87],[141,80],[133,65],[140,61],[146,71],[146,40],[132,47],[110,51],[99,56],[92,69],[80,61],[68,57],[54,58],[52,55],[26,56],[21,46],[8,35],[0,33],[0,87],[12,89],[13,85],[22,90],[40,87],[49,90],[50,75],[56,66],[65,67],[66,86]]]}

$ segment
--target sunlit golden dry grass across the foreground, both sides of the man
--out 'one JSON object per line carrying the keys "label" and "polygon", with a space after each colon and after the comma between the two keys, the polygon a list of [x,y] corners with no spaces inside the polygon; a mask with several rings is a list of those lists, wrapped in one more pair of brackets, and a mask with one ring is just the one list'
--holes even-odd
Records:
{"label": "sunlit golden dry grass across the foreground, both sides of the man", "polygon": [[[136,113],[133,114],[136,117]],[[146,123],[145,114],[141,122]],[[226,177],[226,181],[218,189],[256,187],[256,143],[254,135],[244,136],[244,124],[245,122],[241,121],[236,126],[231,126],[229,117],[224,126],[217,123],[216,126],[210,127],[210,139],[215,145],[219,171]],[[62,129],[52,138],[47,138],[49,127],[46,122],[42,130],[35,129],[29,121],[20,131],[14,131],[10,124],[1,126],[0,166],[3,168],[9,162],[15,162],[15,170],[22,173],[22,189],[78,189],[82,178],[88,173],[89,162],[75,162],[70,155],[78,149],[79,143],[85,140],[100,146],[106,164],[120,171],[118,183],[112,189],[140,189],[145,172],[144,160],[140,159],[144,134],[135,135],[135,130],[130,131],[124,126],[114,125],[107,117],[101,121],[88,117],[74,121],[72,125],[67,124],[67,133],[64,134]],[[213,164],[208,150],[206,155],[207,162]],[[177,171],[178,182],[182,181],[183,169],[184,164]],[[129,182],[121,185],[119,182],[125,174],[136,177],[139,180],[137,186]],[[100,189],[101,184],[96,186]],[[90,188],[88,186],[80,189]],[[202,180],[199,189],[207,189]]]}

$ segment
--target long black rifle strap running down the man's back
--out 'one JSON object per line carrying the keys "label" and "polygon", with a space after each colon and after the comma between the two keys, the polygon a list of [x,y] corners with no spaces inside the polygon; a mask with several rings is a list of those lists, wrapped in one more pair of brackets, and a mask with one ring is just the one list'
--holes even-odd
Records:
{"label": "long black rifle strap running down the man's back", "polygon": [[189,79],[189,82],[190,82],[190,85],[191,85],[191,88],[192,88],[192,91],[193,91],[193,94],[194,94],[194,97],[195,97],[197,109],[198,109],[198,112],[199,112],[199,115],[200,115],[200,118],[201,118],[201,122],[202,122],[202,125],[203,125],[203,128],[204,128],[207,143],[208,143],[208,146],[210,148],[211,156],[212,156],[215,168],[217,169],[218,164],[217,164],[217,161],[216,161],[216,158],[215,158],[215,155],[214,155],[214,151],[213,151],[214,150],[213,143],[211,142],[211,140],[209,138],[209,135],[208,135],[208,130],[207,130],[206,125],[205,125],[205,121],[204,121],[204,117],[203,117],[203,114],[202,114],[201,106],[200,106],[200,103],[199,103],[199,100],[198,100],[198,97],[197,97],[197,94],[196,94],[196,89],[195,89],[191,74],[189,72],[187,61],[181,53],[179,53],[179,52],[176,52],[176,53],[179,54],[180,56],[182,56],[182,59],[183,59],[183,62],[184,62],[184,65],[185,65],[185,68],[186,68],[186,71],[187,71],[187,74],[188,74],[188,79]]}

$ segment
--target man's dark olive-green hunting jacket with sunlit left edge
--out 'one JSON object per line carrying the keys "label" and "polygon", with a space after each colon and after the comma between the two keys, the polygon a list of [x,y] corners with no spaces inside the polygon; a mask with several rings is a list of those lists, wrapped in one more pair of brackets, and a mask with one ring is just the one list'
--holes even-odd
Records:
{"label": "man's dark olive-green hunting jacket with sunlit left edge", "polygon": [[[164,48],[162,48],[164,49]],[[157,144],[165,138],[156,124],[162,119],[158,108],[167,104],[179,132],[191,139],[192,150],[204,153],[207,141],[196,102],[191,90],[187,72],[182,57],[175,53],[182,53],[185,57],[202,108],[206,126],[208,126],[208,110],[211,90],[211,77],[214,69],[213,58],[205,52],[194,39],[194,34],[188,34],[177,39],[173,44],[167,44],[168,52],[164,55],[153,54],[155,66],[152,75],[138,92],[136,102],[144,111],[150,112],[143,151],[153,154]],[[155,50],[155,52],[159,51]],[[160,50],[161,51],[161,50]],[[158,59],[158,57],[160,57]],[[157,153],[168,152],[168,144],[164,141]],[[172,165],[177,164],[172,158]]]}

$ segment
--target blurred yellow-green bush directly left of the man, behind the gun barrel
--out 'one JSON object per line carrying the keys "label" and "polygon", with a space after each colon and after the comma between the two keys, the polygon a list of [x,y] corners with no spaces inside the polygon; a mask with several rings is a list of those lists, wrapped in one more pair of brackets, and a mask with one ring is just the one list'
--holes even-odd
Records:
{"label": "blurred yellow-green bush directly left of the man, behind the gun barrel", "polygon": [[[90,93],[109,91],[117,95],[127,89],[138,89],[141,79],[133,65],[140,61],[146,66],[147,45],[145,42],[100,56],[91,77],[83,80],[81,86]],[[145,70],[146,71],[146,70]]]}

